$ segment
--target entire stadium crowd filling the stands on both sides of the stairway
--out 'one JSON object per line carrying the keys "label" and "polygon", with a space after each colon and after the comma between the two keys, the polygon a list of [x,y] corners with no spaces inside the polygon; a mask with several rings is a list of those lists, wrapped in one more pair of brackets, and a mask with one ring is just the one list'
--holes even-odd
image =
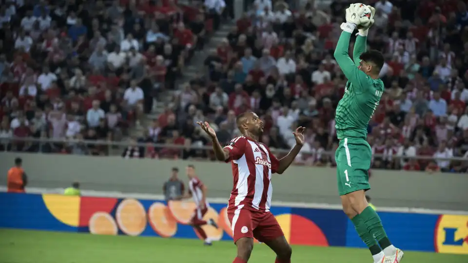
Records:
{"label": "entire stadium crowd filling the stands on both sides of the stairway", "polygon": [[[138,141],[183,149],[132,143],[124,157],[210,158],[210,150],[198,148],[210,141],[195,122],[209,121],[219,140],[228,142],[238,135],[236,114],[249,110],[262,116],[261,141],[270,148],[291,149],[292,129],[300,125],[307,127],[307,143],[295,162],[334,163],[334,110],[346,79],[332,54],[349,1],[335,0],[326,9],[310,1],[291,10],[282,0],[255,0],[204,61],[205,74],[181,85],[174,80],[194,49],[203,48],[204,21],[213,18],[218,27],[222,0],[195,8],[173,0],[6,2],[0,10],[1,82],[8,88],[1,89],[0,138],[116,140],[167,89],[175,90],[172,101]],[[386,92],[369,125],[372,167],[466,172],[467,161],[437,159],[468,159],[466,1],[367,4],[377,10],[369,47],[387,59],[381,71]],[[102,151],[79,144],[50,147]],[[431,158],[404,158],[415,155]]]}

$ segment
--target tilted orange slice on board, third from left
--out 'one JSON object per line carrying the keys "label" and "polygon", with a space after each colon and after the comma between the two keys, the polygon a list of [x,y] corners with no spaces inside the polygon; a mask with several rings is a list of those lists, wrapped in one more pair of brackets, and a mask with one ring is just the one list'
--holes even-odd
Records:
{"label": "tilted orange slice on board, third from left", "polygon": [[148,221],[161,237],[172,237],[177,232],[177,222],[168,214],[169,208],[163,203],[156,202],[148,209]]}

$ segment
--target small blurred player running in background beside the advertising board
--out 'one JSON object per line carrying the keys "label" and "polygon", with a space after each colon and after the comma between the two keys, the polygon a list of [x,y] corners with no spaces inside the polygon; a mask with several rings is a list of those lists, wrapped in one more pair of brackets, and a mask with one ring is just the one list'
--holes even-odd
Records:
{"label": "small blurred player running in background beside the advertising board", "polygon": [[179,199],[187,199],[191,198],[194,200],[196,204],[194,216],[190,220],[190,225],[195,228],[195,231],[203,238],[205,245],[212,245],[211,239],[206,235],[205,230],[201,228],[202,225],[213,225],[214,227],[218,228],[213,218],[210,220],[205,221],[203,217],[208,212],[208,208],[210,204],[206,201],[206,186],[196,177],[195,175],[195,166],[188,165],[187,166],[187,176],[189,177],[189,191],[185,195],[183,195]]}

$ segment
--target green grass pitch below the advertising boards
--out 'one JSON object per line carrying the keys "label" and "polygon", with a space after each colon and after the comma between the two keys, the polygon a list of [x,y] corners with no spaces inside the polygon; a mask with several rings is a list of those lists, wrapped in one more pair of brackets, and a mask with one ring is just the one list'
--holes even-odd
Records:
{"label": "green grass pitch below the advertising boards", "polygon": [[[0,263],[232,263],[232,242],[203,246],[200,240],[96,236],[0,229]],[[273,263],[274,254],[255,244],[249,263]],[[371,263],[367,249],[292,247],[293,263]],[[406,251],[403,263],[467,263],[468,256]]]}

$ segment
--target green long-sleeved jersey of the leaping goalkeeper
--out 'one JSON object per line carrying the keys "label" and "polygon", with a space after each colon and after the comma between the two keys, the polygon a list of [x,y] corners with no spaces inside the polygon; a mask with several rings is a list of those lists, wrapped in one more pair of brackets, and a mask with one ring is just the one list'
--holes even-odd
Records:
{"label": "green long-sleeved jersey of the leaping goalkeeper", "polygon": [[335,128],[338,139],[367,138],[367,127],[384,92],[384,83],[372,79],[359,70],[362,53],[366,51],[367,37],[358,36],[354,43],[353,59],[348,49],[351,33],[342,32],[335,49],[335,59],[348,78],[345,94],[336,107]]}

